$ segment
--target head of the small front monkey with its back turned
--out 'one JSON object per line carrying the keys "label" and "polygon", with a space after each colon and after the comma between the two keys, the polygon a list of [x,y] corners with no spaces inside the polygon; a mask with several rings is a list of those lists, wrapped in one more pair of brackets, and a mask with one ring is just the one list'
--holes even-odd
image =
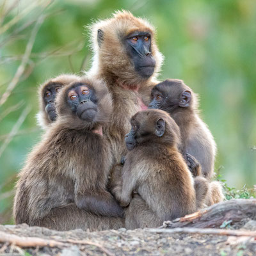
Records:
{"label": "head of the small front monkey with its back turned", "polygon": [[177,146],[180,130],[168,113],[158,109],[147,109],[131,118],[131,131],[125,135],[128,150],[145,143],[163,143]]}

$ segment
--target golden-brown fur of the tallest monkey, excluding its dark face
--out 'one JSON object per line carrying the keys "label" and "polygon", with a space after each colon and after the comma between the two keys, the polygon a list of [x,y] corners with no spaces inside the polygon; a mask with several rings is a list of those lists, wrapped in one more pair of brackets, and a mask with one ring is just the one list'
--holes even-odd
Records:
{"label": "golden-brown fur of the tallest monkey, excluding its dark face", "polygon": [[[97,43],[97,31],[104,31],[104,40],[100,47]],[[113,18],[100,20],[91,28],[93,65],[88,72],[106,81],[113,96],[113,115],[104,133],[111,142],[114,163],[120,163],[125,155],[124,136],[130,129],[129,120],[141,110],[141,102],[150,101],[150,90],[156,84],[156,76],[161,67],[163,56],[157,49],[155,31],[147,20],[134,17],[130,12],[116,12]],[[154,74],[143,79],[134,71],[122,39],[132,31],[148,31],[151,34],[152,55],[156,59]]]}

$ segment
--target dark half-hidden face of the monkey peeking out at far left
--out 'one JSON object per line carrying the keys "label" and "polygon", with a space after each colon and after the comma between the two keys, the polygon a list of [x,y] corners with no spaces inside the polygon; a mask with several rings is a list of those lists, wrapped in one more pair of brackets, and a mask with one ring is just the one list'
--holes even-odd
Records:
{"label": "dark half-hidden face of the monkey peeking out at far left", "polygon": [[63,84],[50,83],[45,87],[44,91],[44,103],[45,103],[45,112],[51,122],[56,120],[57,113],[55,107],[55,98],[57,93],[60,91]]}

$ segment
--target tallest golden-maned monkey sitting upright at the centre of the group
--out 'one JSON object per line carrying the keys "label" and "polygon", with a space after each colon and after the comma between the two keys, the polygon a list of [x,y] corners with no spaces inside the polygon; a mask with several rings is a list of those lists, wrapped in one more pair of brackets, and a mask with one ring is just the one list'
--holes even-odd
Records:
{"label": "tallest golden-maned monkey sitting upright at the centre of the group", "polygon": [[114,163],[125,155],[124,136],[131,116],[146,109],[157,83],[162,55],[154,28],[130,12],[116,12],[91,28],[93,64],[88,74],[104,79],[113,96],[113,115],[104,133],[111,142]]}

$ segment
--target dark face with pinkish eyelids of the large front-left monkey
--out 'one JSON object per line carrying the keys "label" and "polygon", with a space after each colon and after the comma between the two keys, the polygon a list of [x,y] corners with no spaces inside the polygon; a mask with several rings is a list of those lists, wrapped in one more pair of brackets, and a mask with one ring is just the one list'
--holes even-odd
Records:
{"label": "dark face with pinkish eyelids of the large front-left monkey", "polygon": [[76,83],[68,90],[67,97],[72,113],[82,120],[93,122],[97,115],[97,98],[90,86]]}

